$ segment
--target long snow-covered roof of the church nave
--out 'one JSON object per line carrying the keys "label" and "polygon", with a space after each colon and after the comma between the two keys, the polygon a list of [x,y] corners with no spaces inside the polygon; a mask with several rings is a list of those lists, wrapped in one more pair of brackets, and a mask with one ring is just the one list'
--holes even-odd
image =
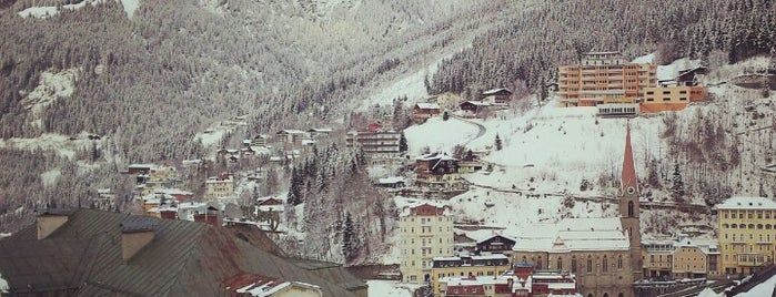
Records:
{"label": "long snow-covered roof of the church nave", "polygon": [[627,250],[628,238],[617,217],[565,218],[537,223],[515,238],[513,250],[563,253],[568,250]]}

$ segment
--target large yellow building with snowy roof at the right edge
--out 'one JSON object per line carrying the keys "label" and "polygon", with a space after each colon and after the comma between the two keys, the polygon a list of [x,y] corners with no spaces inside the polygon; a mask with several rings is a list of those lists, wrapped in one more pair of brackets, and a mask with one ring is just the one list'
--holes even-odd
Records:
{"label": "large yellow building with snowy roof at the right edge", "polygon": [[717,213],[722,272],[753,274],[776,254],[776,202],[732,197],[714,206]]}

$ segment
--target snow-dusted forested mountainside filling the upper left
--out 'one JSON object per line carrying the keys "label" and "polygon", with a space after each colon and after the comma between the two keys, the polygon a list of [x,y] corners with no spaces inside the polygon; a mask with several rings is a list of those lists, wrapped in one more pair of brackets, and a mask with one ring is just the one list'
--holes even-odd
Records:
{"label": "snow-dusted forested mountainside filling the upper left", "polygon": [[[212,157],[195,135],[216,121],[248,115],[235,137],[339,122],[372,88],[478,28],[458,20],[483,9],[468,1],[178,0],[141,1],[129,18],[119,1],[62,8],[70,2],[0,6],[0,162],[12,164],[0,211],[19,209],[0,215],[3,229],[36,207],[75,205],[100,187],[125,198],[132,185],[119,172],[127,164]],[[59,12],[18,14],[46,6]],[[28,96],[43,73],[64,72],[73,73],[72,93],[33,104]],[[103,137],[68,157],[11,141],[83,132]],[[44,173],[53,181],[42,181]]]}

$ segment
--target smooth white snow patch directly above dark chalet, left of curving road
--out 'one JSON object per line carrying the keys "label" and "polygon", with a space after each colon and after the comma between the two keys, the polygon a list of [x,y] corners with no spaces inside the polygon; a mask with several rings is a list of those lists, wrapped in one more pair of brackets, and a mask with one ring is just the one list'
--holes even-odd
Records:
{"label": "smooth white snow patch directly above dark chalet, left of curving road", "polygon": [[456,144],[465,143],[474,139],[480,130],[476,125],[455,117],[443,121],[442,116],[429,119],[422,125],[414,125],[404,130],[407,139],[409,153],[420,155],[423,147],[429,146],[432,152],[453,152]]}

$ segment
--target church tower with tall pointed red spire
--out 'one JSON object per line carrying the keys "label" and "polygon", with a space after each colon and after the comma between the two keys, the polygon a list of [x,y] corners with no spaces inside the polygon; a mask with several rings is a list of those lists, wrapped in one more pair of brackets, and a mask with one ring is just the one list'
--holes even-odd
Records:
{"label": "church tower with tall pointed red spire", "polygon": [[633,279],[642,279],[642,231],[638,223],[638,180],[633,162],[633,147],[631,147],[631,123],[627,124],[625,134],[625,154],[623,158],[623,175],[621,177],[619,222],[623,231],[627,232],[631,240],[631,270]]}

